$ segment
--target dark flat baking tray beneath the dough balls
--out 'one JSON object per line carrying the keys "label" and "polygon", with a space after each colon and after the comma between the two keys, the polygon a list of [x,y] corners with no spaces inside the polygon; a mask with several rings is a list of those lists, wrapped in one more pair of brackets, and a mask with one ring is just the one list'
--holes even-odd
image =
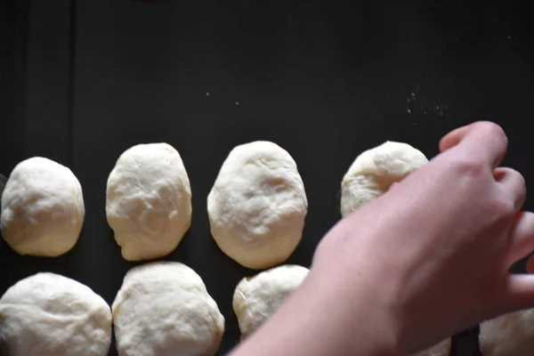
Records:
{"label": "dark flat baking tray beneath the dough balls", "polygon": [[[288,263],[303,265],[340,218],[345,170],[385,140],[432,158],[442,134],[489,119],[509,135],[505,164],[531,182],[529,14],[473,0],[0,0],[0,173],[52,158],[77,174],[86,207],[77,247],[61,258],[21,257],[0,242],[0,294],[55,271],[111,303],[135,263],[106,223],[107,176],[126,148],[168,142],[190,174],[193,222],[165,259],[205,280],[228,352],[239,341],[233,288],[255,273],[223,255],[207,223],[206,196],[231,148],[271,140],[295,158],[310,209]],[[455,337],[452,353],[476,354],[476,339],[476,328]]]}

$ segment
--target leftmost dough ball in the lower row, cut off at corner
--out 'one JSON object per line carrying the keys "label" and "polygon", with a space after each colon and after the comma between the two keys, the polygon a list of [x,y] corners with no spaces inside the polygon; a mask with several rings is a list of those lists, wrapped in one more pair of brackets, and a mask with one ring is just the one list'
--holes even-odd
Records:
{"label": "leftmost dough ball in the lower row, cut off at corner", "polygon": [[9,356],[106,356],[109,305],[76,280],[44,272],[0,299],[0,350]]}

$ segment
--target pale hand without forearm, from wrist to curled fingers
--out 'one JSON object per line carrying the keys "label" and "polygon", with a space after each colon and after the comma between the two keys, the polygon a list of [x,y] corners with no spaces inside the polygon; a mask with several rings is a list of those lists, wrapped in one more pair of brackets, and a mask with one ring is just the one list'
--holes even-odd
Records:
{"label": "pale hand without forearm, from wrist to curled fingers", "polygon": [[405,353],[533,306],[534,277],[508,272],[534,249],[534,214],[521,212],[522,175],[498,167],[506,147],[489,122],[447,134],[439,156],[328,233],[311,275],[341,283],[339,303],[383,306]]}

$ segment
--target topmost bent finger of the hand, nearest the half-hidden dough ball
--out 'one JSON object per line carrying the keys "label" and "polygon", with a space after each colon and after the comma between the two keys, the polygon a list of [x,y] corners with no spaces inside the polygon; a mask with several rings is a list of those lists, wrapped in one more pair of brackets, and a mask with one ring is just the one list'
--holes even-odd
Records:
{"label": "topmost bent finger of the hand, nearest the half-hidden dough ball", "polygon": [[440,142],[444,152],[452,148],[464,150],[469,156],[487,161],[492,168],[497,167],[505,157],[508,139],[503,129],[489,121],[479,121],[466,125],[445,135]]}

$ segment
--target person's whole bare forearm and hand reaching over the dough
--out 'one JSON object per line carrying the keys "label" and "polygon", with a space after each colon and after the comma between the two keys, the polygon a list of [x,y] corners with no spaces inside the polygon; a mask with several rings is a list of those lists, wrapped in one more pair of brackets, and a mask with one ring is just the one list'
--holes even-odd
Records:
{"label": "person's whole bare forearm and hand reaching over the dough", "polygon": [[508,272],[534,250],[534,214],[522,174],[500,167],[506,147],[490,122],[445,135],[328,231],[302,287],[231,356],[407,355],[534,306],[534,275]]}

